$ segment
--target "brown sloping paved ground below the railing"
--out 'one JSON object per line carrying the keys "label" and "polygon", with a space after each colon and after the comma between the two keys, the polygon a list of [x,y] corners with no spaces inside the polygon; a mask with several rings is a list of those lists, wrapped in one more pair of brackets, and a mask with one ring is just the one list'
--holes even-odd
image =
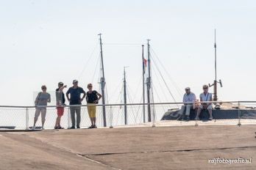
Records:
{"label": "brown sloping paved ground below the railing", "polygon": [[[255,169],[255,125],[0,132],[0,169]],[[212,158],[252,163],[210,164]]]}

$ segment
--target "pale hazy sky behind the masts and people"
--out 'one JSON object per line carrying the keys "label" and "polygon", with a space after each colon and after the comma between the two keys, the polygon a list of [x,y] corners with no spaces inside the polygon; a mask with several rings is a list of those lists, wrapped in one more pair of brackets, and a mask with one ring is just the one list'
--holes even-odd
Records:
{"label": "pale hazy sky behind the masts and people", "polygon": [[[124,66],[130,100],[140,102],[146,39],[175,99],[186,86],[198,97],[213,83],[214,29],[219,99],[255,100],[255,18],[256,2],[246,0],[0,0],[0,105],[31,106],[42,84],[54,91],[76,78],[99,89],[99,33],[110,103],[121,103]],[[152,67],[155,101],[173,102]]]}

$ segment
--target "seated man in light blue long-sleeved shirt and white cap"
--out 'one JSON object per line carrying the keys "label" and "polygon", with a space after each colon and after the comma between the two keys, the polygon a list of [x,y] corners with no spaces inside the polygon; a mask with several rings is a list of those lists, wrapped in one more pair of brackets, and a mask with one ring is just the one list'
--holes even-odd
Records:
{"label": "seated man in light blue long-sleeved shirt and white cap", "polygon": [[178,114],[179,117],[177,120],[182,120],[182,114],[185,112],[185,120],[189,121],[189,115],[191,114],[191,108],[195,108],[195,105],[192,104],[193,102],[196,101],[196,95],[191,92],[191,88],[187,87],[185,88],[185,94],[183,96],[183,103],[184,105],[182,108],[180,108]]}

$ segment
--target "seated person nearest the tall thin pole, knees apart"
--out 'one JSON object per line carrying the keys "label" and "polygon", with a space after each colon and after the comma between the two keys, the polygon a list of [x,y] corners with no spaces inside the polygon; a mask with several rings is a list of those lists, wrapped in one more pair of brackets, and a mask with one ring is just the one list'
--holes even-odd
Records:
{"label": "seated person nearest the tall thin pole, knees apart", "polygon": [[[212,96],[211,93],[208,92],[208,89],[209,88],[208,88],[207,85],[203,86],[204,92],[200,95],[200,101],[201,102],[213,101],[213,96]],[[207,109],[207,111],[210,114],[209,119],[213,120],[213,106],[212,106],[212,103],[201,103],[201,105],[199,106],[198,111],[197,111],[196,120],[199,120],[199,116],[200,116],[203,109]]]}

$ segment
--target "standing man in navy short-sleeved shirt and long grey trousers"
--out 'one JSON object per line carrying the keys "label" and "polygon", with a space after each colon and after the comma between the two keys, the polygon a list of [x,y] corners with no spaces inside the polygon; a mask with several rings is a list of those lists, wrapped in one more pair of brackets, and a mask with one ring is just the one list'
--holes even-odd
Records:
{"label": "standing man in navy short-sleeved shirt and long grey trousers", "polygon": [[[69,97],[70,94],[70,97]],[[81,94],[83,94],[82,98],[81,98]],[[78,86],[78,81],[74,80],[73,81],[73,86],[71,86],[68,89],[68,92],[66,92],[66,96],[67,99],[69,101],[69,105],[70,105],[70,112],[71,112],[71,122],[72,122],[72,126],[71,129],[75,128],[76,125],[76,117],[75,114],[77,114],[77,128],[80,128],[80,120],[81,120],[81,105],[82,104],[82,100],[85,99],[86,93],[85,90],[82,89],[82,87]],[[75,106],[72,106],[75,105]]]}

